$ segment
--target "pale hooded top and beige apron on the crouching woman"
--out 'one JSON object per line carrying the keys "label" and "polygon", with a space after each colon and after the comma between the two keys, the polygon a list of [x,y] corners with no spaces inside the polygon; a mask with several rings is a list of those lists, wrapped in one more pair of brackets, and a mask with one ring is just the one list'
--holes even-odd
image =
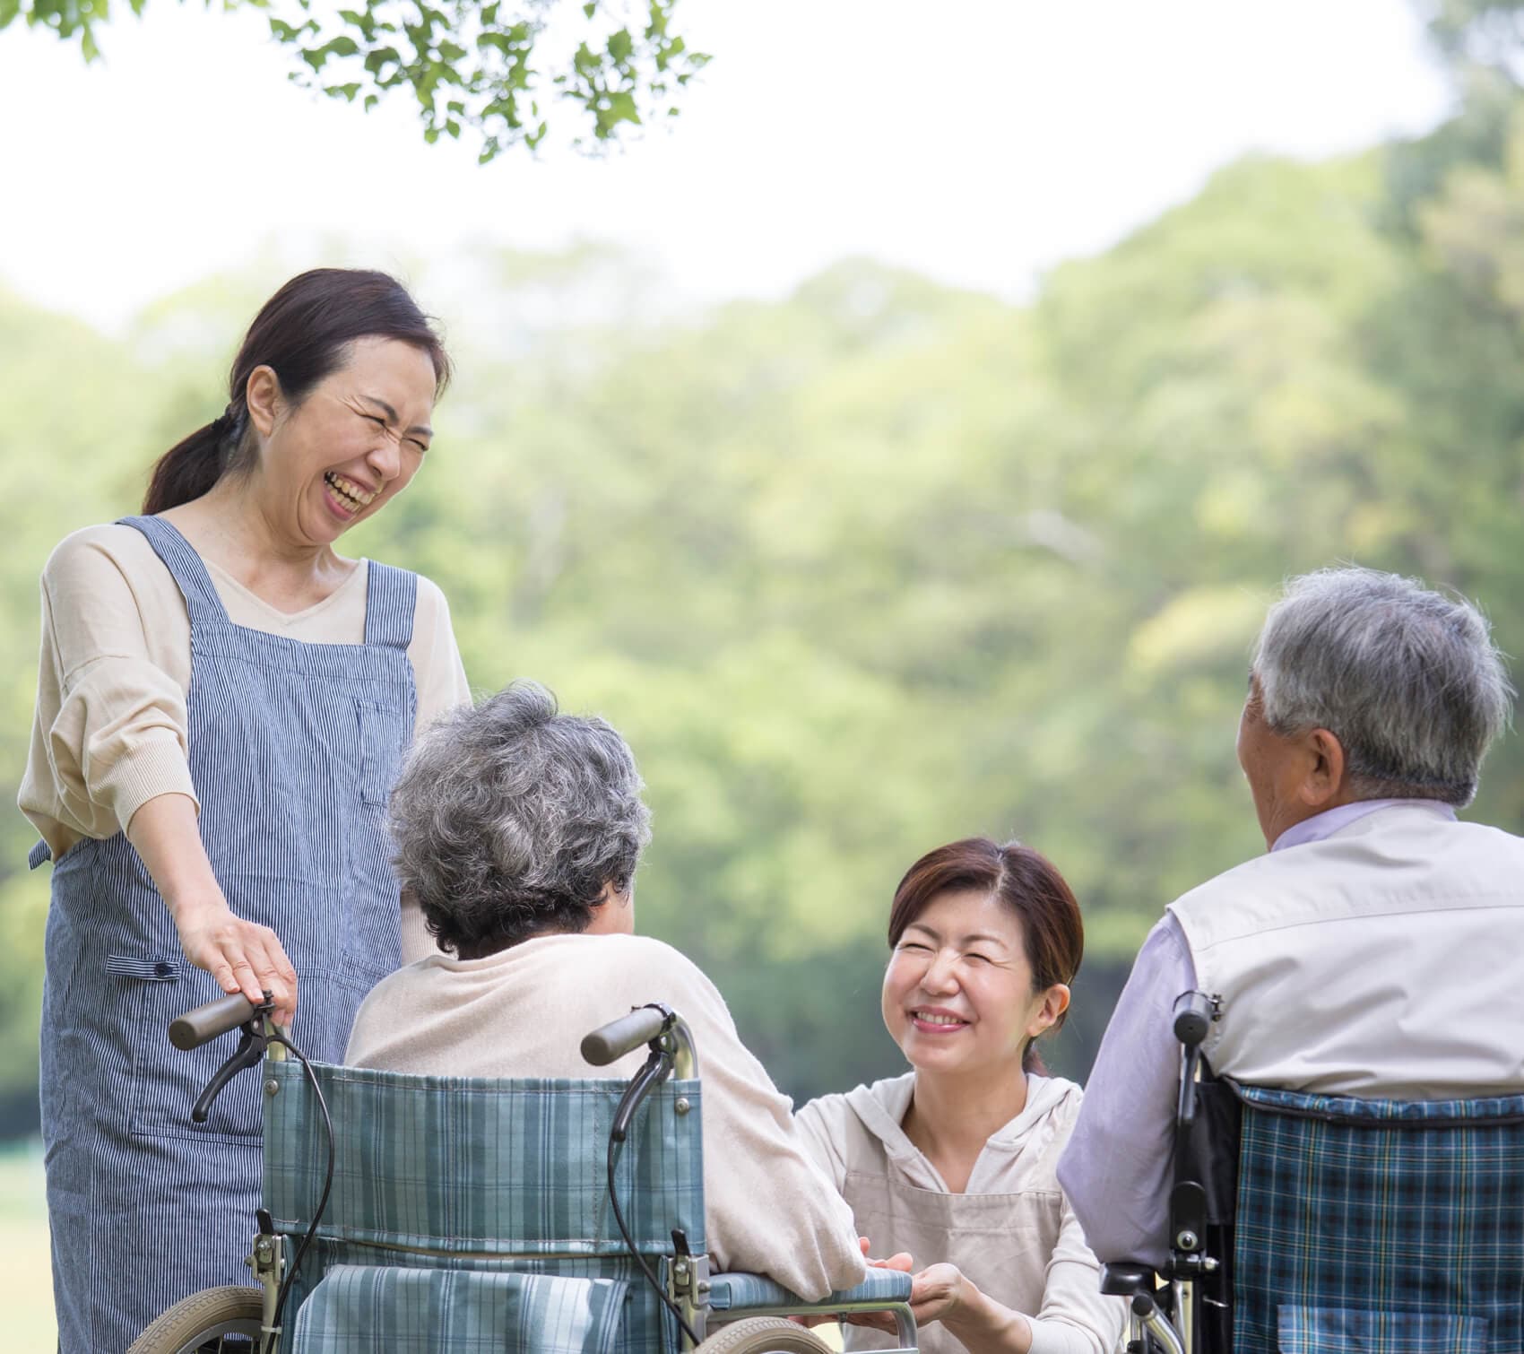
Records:
{"label": "pale hooded top and beige apron on the crouching woman", "polygon": [[[1053,1171],[1079,1113],[1081,1090],[1027,1076],[1027,1104],[991,1136],[963,1194],[901,1128],[916,1073],[811,1101],[796,1116],[815,1160],[846,1195],[875,1255],[908,1250],[916,1269],[948,1261],[1032,1324],[1032,1354],[1105,1354],[1126,1320],[1100,1295],[1100,1266]],[[849,1349],[887,1348],[887,1336],[846,1330]],[[922,1354],[963,1354],[940,1325],[920,1331]]]}

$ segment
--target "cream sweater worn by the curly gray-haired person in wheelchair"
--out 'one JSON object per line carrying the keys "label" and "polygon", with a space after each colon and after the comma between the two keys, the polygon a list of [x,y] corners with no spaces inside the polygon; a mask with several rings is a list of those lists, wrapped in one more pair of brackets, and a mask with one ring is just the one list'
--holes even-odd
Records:
{"label": "cream sweater worn by the curly gray-haired person in wheelchair", "polygon": [[[645,1049],[605,1070],[582,1061],[582,1035],[646,1002],[687,1022],[704,1086],[704,1212],[721,1269],[771,1275],[811,1301],[866,1273],[852,1214],[811,1162],[762,1064],[715,985],[649,936],[538,936],[486,959],[434,955],[366,997],[344,1061],[443,1076],[622,1076]],[[602,1151],[590,1144],[590,1151]]]}

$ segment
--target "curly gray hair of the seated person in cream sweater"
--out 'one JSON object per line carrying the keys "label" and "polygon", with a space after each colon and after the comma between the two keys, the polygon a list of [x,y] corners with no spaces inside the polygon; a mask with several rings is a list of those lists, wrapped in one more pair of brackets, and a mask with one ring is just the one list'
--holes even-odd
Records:
{"label": "curly gray hair of the seated person in cream sweater", "polygon": [[581,932],[651,840],[629,746],[515,682],[434,724],[392,791],[398,877],[447,950],[482,958]]}

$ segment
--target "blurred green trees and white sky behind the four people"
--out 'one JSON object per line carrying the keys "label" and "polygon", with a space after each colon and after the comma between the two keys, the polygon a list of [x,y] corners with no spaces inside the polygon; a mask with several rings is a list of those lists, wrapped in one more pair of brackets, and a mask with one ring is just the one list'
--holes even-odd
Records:
{"label": "blurred green trees and white sky behind the four people", "polygon": [[[1524,647],[1515,6],[690,9],[671,131],[480,169],[238,66],[247,14],[119,20],[107,72],[0,34],[0,787],[49,550],[136,509],[285,276],[378,264],[459,377],[349,549],[440,584],[479,691],[628,736],[640,927],[805,1098],[898,1069],[905,866],[1020,837],[1085,909],[1082,1078],[1163,904],[1263,848],[1233,729],[1286,575],[1416,573]],[[195,116],[219,82],[267,102]],[[1516,736],[1471,813],[1524,826]],[[30,840],[0,819],[0,1296],[46,1349]]]}

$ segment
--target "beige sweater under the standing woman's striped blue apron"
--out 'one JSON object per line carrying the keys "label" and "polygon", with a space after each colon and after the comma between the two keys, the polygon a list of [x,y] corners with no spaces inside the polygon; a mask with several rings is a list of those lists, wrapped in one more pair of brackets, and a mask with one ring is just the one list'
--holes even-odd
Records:
{"label": "beige sweater under the standing woman's striped blue apron", "polygon": [[[315,607],[287,614],[207,561],[235,625],[308,643],[361,643],[369,563]],[[413,642],[418,727],[471,700],[443,593],[418,581]],[[43,570],[43,645],[32,744],[17,796],[62,855],[81,837],[111,837],[158,794],[197,799],[186,753],[190,621],[184,598],[140,531],[88,526]],[[200,801],[197,801],[200,802]],[[418,909],[404,909],[402,958],[434,950]]]}

